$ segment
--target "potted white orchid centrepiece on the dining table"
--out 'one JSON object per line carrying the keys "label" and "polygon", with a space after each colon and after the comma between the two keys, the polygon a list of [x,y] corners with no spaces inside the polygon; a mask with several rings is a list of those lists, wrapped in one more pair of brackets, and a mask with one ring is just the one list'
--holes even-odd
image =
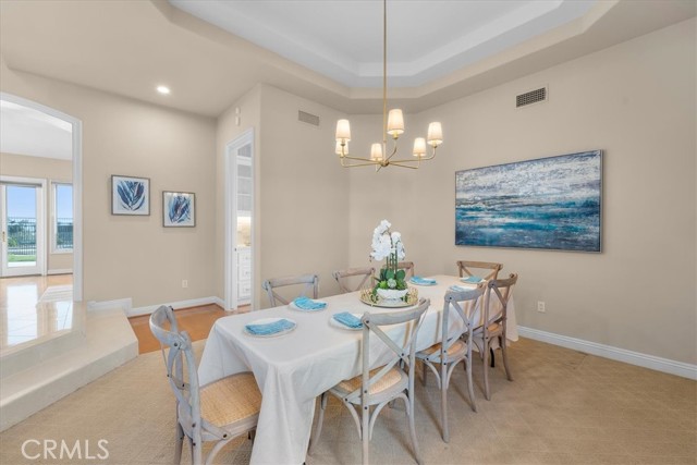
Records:
{"label": "potted white orchid centrepiece on the dining table", "polygon": [[402,234],[390,231],[392,224],[388,220],[380,221],[380,224],[372,231],[371,260],[386,260],[386,265],[380,269],[377,277],[372,297],[377,299],[400,299],[404,298],[408,289],[406,285],[406,273],[398,269],[398,262],[404,259],[404,244]]}

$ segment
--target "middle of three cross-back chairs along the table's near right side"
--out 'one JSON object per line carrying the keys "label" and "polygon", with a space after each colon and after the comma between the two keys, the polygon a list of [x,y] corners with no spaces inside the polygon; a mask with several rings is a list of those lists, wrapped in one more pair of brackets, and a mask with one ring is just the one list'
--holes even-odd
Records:
{"label": "middle of three cross-back chairs along the table's near right side", "polygon": [[[467,370],[467,391],[472,409],[477,412],[475,390],[472,380],[472,344],[473,331],[478,321],[473,321],[473,314],[477,301],[486,291],[486,283],[476,289],[465,291],[449,291],[443,299],[441,317],[441,342],[420,351],[416,358],[423,363],[423,382],[426,386],[426,374],[430,369],[440,387],[441,436],[443,441],[450,441],[448,429],[448,387],[455,367],[462,362]],[[462,326],[457,325],[462,320]],[[454,329],[458,328],[458,329]],[[465,334],[465,340],[461,335]]]}

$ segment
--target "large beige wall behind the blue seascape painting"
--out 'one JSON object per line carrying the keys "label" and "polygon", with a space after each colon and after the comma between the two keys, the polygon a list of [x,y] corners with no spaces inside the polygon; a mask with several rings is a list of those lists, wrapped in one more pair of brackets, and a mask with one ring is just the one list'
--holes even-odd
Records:
{"label": "large beige wall behind the blue seascape painting", "polygon": [[[352,258],[386,217],[418,273],[464,258],[518,272],[522,326],[697,363],[695,70],[692,20],[412,115],[411,137],[440,119],[445,142],[418,173],[352,173]],[[548,102],[514,108],[542,85]],[[601,254],[454,246],[455,171],[588,149],[604,150]]]}

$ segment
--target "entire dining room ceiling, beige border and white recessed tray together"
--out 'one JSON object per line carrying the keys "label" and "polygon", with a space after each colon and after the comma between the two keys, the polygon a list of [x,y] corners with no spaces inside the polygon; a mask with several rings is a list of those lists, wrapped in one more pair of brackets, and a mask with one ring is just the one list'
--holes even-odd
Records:
{"label": "entire dining room ceiling, beige border and white recessed tray together", "polygon": [[[212,118],[258,83],[381,111],[379,0],[172,2],[0,0],[0,65]],[[235,33],[172,4],[208,8]],[[687,20],[696,4],[389,0],[390,105],[421,111]]]}

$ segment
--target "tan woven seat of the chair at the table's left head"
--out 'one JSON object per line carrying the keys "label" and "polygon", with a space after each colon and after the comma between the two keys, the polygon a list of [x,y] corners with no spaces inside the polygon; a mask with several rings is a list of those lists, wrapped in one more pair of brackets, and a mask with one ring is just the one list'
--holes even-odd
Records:
{"label": "tan woven seat of the chair at the table's left head", "polygon": [[200,388],[201,416],[216,426],[250,418],[259,414],[261,392],[254,375],[232,375]]}

